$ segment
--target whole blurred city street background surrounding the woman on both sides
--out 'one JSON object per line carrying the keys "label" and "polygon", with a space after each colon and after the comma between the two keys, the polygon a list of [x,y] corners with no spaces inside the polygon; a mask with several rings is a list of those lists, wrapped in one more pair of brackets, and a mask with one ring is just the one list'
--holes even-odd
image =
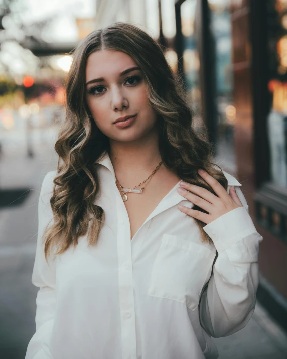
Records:
{"label": "whole blurred city street background surrounding the woman on both sides", "polygon": [[165,47],[263,236],[255,312],[213,339],[219,359],[287,358],[287,0],[0,0],[0,358],[23,359],[35,332],[38,199],[73,49],[116,21]]}

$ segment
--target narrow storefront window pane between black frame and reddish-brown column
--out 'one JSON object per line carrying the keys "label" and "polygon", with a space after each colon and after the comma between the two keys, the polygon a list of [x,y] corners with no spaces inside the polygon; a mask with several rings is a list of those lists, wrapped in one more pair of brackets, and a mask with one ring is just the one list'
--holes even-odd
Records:
{"label": "narrow storefront window pane between black frame and reddish-brown column", "polygon": [[234,151],[232,34],[229,0],[209,0],[210,31],[215,51],[216,151],[226,169],[236,172]]}

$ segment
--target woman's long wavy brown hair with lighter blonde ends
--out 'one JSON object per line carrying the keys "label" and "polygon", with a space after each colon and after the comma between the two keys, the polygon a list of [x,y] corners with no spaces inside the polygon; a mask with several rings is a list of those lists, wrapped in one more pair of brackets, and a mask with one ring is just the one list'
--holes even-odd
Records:
{"label": "woman's long wavy brown hair with lighter blonde ends", "polygon": [[[59,161],[50,199],[53,224],[47,225],[43,235],[46,260],[52,248],[59,255],[71,245],[75,247],[82,235],[87,234],[89,246],[96,245],[104,223],[105,213],[96,204],[99,192],[96,161],[109,151],[109,139],[96,126],[85,100],[87,58],[100,50],[122,51],[142,70],[150,105],[157,113],[159,150],[164,165],[180,179],[215,194],[197,173],[203,168],[227,189],[226,177],[212,162],[213,147],[206,130],[199,133],[193,126],[193,111],[182,78],[173,73],[165,49],[138,27],[116,22],[89,34],[73,52],[66,80],[66,118],[55,143]],[[205,212],[196,205],[193,208]],[[210,243],[210,237],[202,229],[206,224],[195,221],[202,242]]]}

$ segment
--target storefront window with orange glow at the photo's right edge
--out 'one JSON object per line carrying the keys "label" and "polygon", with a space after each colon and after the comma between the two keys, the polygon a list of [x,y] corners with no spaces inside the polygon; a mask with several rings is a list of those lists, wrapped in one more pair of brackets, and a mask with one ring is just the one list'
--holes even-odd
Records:
{"label": "storefront window with orange glow at the photo's right edge", "polygon": [[268,0],[268,90],[272,95],[267,119],[271,181],[287,186],[287,1]]}

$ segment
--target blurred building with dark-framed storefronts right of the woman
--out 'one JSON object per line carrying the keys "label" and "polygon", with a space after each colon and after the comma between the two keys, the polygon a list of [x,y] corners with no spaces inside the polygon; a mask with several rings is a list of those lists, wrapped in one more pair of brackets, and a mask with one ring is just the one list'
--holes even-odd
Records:
{"label": "blurred building with dark-framed storefronts right of the woman", "polygon": [[217,162],[242,183],[263,235],[257,298],[287,327],[287,1],[97,1],[96,28],[128,21],[167,48]]}

